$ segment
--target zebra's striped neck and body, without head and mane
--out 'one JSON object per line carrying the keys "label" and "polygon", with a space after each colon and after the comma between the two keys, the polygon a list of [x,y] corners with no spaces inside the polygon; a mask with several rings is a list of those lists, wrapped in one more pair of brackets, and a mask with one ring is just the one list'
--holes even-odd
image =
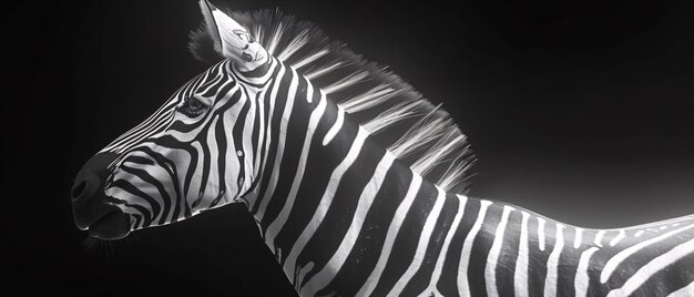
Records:
{"label": "zebra's striped neck and body, without head and mane", "polygon": [[[278,81],[308,83],[290,74]],[[269,143],[292,141],[282,160],[262,162],[247,205],[302,295],[666,296],[694,280],[694,217],[588,229],[446,193],[350,121],[324,145],[340,110],[300,89],[288,119],[275,106],[296,129],[266,132],[277,135]],[[293,170],[273,171],[283,167]]]}

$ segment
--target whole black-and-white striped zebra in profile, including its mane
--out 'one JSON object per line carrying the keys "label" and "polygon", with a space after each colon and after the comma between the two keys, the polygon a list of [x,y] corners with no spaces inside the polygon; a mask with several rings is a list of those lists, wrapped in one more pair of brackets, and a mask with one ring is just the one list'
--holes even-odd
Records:
{"label": "whole black-and-white striped zebra in profile, including its mane", "polygon": [[397,75],[295,17],[200,6],[190,49],[222,61],[78,173],[91,236],[242,203],[302,296],[694,295],[694,216],[590,229],[469,197],[465,134]]}

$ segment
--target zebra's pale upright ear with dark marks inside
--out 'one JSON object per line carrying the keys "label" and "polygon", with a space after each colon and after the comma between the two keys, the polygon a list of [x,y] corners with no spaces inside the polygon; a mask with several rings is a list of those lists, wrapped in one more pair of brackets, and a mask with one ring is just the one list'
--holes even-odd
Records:
{"label": "zebra's pale upright ear with dark marks inside", "polygon": [[235,62],[241,70],[253,70],[267,62],[268,53],[238,22],[207,0],[200,1],[214,50]]}

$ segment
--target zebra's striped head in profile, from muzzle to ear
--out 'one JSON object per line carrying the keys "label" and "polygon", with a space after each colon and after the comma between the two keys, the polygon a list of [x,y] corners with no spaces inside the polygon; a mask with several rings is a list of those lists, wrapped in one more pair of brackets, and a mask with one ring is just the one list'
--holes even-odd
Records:
{"label": "zebra's striped head in profile, from muzzle to ear", "polygon": [[253,82],[271,72],[273,58],[231,17],[204,0],[201,8],[206,35],[226,59],[78,173],[74,222],[91,236],[118,239],[175,223],[239,202],[252,187],[254,139],[246,122],[255,116]]}

